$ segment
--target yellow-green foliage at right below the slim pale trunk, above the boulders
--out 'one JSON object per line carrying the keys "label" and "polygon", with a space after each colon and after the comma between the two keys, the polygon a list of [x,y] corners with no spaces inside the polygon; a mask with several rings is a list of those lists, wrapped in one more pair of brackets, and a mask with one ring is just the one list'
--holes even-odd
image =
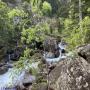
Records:
{"label": "yellow-green foliage at right below the slim pale trunk, above the boulders", "polygon": [[76,46],[90,43],[90,17],[86,16],[82,21],[83,31],[80,30],[80,27],[73,26],[73,23],[70,20],[65,20],[63,34],[66,35],[64,38],[69,43],[69,48],[73,49]]}

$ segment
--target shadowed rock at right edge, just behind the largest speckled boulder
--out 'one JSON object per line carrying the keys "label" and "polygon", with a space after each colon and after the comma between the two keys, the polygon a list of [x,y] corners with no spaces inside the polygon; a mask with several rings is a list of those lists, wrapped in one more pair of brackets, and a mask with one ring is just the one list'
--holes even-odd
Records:
{"label": "shadowed rock at right edge, just behind the largest speckled boulder", "polygon": [[90,63],[90,44],[78,47],[78,54]]}

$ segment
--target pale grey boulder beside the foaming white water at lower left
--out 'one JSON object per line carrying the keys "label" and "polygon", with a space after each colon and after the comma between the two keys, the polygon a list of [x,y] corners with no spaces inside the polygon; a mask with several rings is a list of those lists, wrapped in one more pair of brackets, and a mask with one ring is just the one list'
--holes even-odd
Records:
{"label": "pale grey boulder beside the foaming white water at lower left", "polygon": [[36,80],[34,75],[31,75],[29,71],[23,71],[18,77],[18,80],[15,82],[16,86],[19,87],[19,90],[27,89],[32,85]]}

